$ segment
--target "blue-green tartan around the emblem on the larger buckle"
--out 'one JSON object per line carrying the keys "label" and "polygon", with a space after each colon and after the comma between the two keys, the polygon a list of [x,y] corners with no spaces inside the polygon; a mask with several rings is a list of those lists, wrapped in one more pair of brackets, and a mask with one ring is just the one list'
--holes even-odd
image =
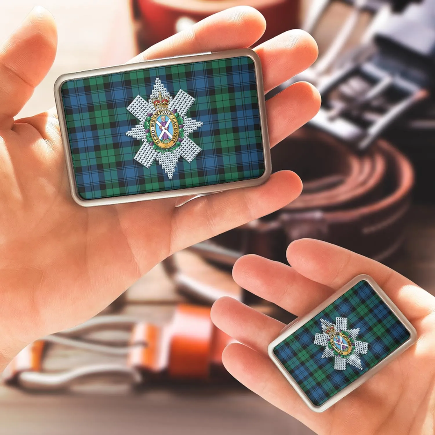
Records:
{"label": "blue-green tartan around the emblem on the larger buckle", "polygon": [[[168,179],[154,162],[134,160],[142,142],[126,136],[138,120],[127,111],[148,100],[157,77],[172,97],[195,97],[188,117],[204,123],[191,133],[201,152],[181,159]],[[254,63],[249,57],[124,71],[67,80],[61,87],[78,194],[116,197],[258,178],[264,173]]]}

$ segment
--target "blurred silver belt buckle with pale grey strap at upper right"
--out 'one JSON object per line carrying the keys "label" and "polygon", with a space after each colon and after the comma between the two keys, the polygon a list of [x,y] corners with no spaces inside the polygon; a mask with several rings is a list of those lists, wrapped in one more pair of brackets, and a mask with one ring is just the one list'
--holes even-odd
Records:
{"label": "blurred silver belt buckle with pale grey strap at upper right", "polygon": [[319,87],[323,104],[310,124],[364,151],[433,90],[435,2],[410,4],[374,34],[367,59],[338,70]]}

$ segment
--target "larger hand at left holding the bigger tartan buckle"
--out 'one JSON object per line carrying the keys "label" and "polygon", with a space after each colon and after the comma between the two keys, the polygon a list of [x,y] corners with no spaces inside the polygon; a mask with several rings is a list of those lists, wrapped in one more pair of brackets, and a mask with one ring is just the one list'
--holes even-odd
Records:
{"label": "larger hand at left holding the bigger tartan buckle", "polygon": [[[259,12],[238,7],[132,61],[249,47],[264,28]],[[281,171],[259,187],[181,207],[180,198],[78,206],[69,193],[55,110],[13,119],[50,69],[56,43],[53,17],[36,8],[0,48],[0,368],[31,341],[97,314],[173,252],[275,211],[301,191],[298,176]],[[255,50],[266,91],[317,56],[314,40],[299,30]],[[271,144],[307,122],[319,104],[318,92],[306,83],[268,101]]]}

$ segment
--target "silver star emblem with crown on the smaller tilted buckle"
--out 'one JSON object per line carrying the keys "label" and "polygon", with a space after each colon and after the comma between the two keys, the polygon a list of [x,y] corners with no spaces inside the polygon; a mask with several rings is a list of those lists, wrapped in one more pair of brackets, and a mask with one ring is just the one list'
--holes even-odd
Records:
{"label": "silver star emblem with crown on the smaller tilted buckle", "polygon": [[334,357],[335,370],[346,370],[350,364],[362,370],[360,354],[367,355],[368,343],[355,340],[360,328],[348,330],[348,319],[337,317],[335,325],[324,319],[320,319],[322,334],[317,333],[314,344],[326,346],[322,358]]}

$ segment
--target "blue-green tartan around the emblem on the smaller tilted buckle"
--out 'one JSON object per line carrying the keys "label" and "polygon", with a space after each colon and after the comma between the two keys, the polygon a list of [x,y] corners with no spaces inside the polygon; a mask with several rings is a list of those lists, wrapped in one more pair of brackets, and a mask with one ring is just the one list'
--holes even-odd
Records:
{"label": "blue-green tartan around the emblem on the smaller tilted buckle", "polygon": [[[324,348],[314,344],[315,334],[321,333],[320,319],[335,322],[337,317],[347,317],[348,328],[361,328],[358,340],[368,342],[368,354],[360,355],[362,370],[351,365],[345,371],[335,370],[334,360],[322,359]],[[274,354],[311,402],[320,406],[385,359],[409,337],[408,330],[371,285],[360,281],[275,346]]]}

